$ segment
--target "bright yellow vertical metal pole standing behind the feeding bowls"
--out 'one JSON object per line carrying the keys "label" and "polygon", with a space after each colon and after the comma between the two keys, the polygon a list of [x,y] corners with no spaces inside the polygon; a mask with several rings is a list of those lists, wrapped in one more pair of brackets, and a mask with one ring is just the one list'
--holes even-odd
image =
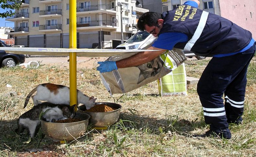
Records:
{"label": "bright yellow vertical metal pole standing behind the feeding bowls", "polygon": [[[76,1],[69,0],[69,48],[76,49]],[[69,53],[70,106],[77,104],[76,52]],[[77,110],[77,107],[75,108]]]}

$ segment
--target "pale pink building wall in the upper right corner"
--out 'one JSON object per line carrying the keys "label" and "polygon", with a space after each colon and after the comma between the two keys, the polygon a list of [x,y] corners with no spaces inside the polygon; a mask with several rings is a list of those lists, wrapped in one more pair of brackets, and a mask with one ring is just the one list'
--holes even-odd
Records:
{"label": "pale pink building wall in the upper right corner", "polygon": [[[256,2],[255,0],[219,0],[221,16],[240,27],[249,30],[256,39]],[[252,18],[250,16],[252,14]]]}

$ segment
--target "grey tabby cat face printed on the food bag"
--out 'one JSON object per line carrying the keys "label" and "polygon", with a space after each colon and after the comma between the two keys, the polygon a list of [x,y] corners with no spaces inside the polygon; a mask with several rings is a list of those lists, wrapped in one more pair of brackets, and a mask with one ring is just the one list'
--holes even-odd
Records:
{"label": "grey tabby cat face printed on the food bag", "polygon": [[155,58],[154,60],[141,64],[137,66],[140,69],[140,75],[137,84],[141,83],[148,77],[155,76],[159,73],[163,67],[163,61],[160,57]]}

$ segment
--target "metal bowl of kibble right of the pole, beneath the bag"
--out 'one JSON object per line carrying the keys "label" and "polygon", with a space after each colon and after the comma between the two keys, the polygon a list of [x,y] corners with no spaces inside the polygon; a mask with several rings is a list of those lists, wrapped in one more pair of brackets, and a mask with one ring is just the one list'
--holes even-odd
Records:
{"label": "metal bowl of kibble right of the pole, beneath the bag", "polygon": [[116,108],[116,110],[109,112],[87,112],[85,105],[79,106],[78,109],[91,116],[91,118],[89,119],[89,123],[94,127],[106,127],[116,123],[120,117],[120,109],[122,106],[116,103],[96,103],[96,105],[100,104],[106,104],[110,107]]}

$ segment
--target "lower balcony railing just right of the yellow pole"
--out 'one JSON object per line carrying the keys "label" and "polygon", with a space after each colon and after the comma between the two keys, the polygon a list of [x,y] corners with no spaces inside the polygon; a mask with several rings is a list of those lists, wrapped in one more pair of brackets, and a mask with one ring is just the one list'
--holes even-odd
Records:
{"label": "lower balcony railing just right of the yellow pole", "polygon": [[76,27],[91,27],[91,26],[118,26],[118,23],[113,23],[111,20],[76,22]]}

